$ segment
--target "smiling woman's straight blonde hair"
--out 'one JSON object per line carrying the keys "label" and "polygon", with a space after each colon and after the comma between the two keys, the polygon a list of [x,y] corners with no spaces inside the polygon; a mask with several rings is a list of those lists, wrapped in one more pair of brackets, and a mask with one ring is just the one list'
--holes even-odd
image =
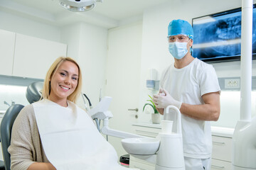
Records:
{"label": "smiling woman's straight blonde hair", "polygon": [[78,100],[78,97],[82,91],[82,74],[81,74],[81,70],[80,70],[78,63],[75,62],[75,60],[73,60],[70,57],[58,57],[55,60],[55,62],[53,62],[53,64],[50,66],[50,69],[48,69],[48,72],[46,74],[46,79],[43,83],[43,91],[42,91],[41,98],[47,98],[47,99],[49,98],[49,96],[50,96],[50,79],[53,77],[55,72],[58,70],[58,67],[60,67],[60,65],[66,61],[73,62],[78,67],[78,85],[77,85],[75,91],[73,92],[73,94],[70,94],[70,96],[68,96],[69,101],[76,103],[76,101]]}

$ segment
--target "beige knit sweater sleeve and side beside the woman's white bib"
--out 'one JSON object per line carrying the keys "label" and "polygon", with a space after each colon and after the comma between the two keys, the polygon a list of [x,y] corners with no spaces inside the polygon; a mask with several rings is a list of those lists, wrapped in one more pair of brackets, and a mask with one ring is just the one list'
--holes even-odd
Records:
{"label": "beige knit sweater sleeve and side beside the woman's white bib", "polygon": [[41,145],[32,105],[18,114],[11,131],[11,170],[26,170],[33,162],[49,162]]}

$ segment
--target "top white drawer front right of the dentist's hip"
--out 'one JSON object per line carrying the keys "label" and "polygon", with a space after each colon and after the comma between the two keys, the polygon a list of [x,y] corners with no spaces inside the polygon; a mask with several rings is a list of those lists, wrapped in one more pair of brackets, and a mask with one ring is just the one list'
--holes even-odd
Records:
{"label": "top white drawer front right of the dentist's hip", "polygon": [[213,159],[231,162],[232,138],[213,136]]}

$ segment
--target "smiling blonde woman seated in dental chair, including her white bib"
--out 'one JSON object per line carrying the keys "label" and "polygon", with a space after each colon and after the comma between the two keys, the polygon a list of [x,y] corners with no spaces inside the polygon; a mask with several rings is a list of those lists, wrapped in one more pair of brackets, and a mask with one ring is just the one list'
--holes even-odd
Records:
{"label": "smiling blonde woman seated in dental chair, including her white bib", "polygon": [[[15,120],[11,169],[123,169],[114,148],[75,105],[81,87],[77,62],[69,57],[55,60],[46,74],[43,99],[24,107]],[[97,159],[100,164],[95,164]]]}

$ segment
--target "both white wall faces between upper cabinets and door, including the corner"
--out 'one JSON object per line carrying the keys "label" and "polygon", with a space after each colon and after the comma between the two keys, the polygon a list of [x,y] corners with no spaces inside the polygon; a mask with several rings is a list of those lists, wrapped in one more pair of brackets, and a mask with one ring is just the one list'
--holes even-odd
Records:
{"label": "both white wall faces between upper cabinets and door, including the corner", "polygon": [[[68,44],[68,56],[78,61],[82,69],[82,92],[96,106],[100,89],[105,94],[105,63],[107,29],[87,23],[75,23],[61,30],[61,41]],[[84,106],[82,99],[78,103]]]}

